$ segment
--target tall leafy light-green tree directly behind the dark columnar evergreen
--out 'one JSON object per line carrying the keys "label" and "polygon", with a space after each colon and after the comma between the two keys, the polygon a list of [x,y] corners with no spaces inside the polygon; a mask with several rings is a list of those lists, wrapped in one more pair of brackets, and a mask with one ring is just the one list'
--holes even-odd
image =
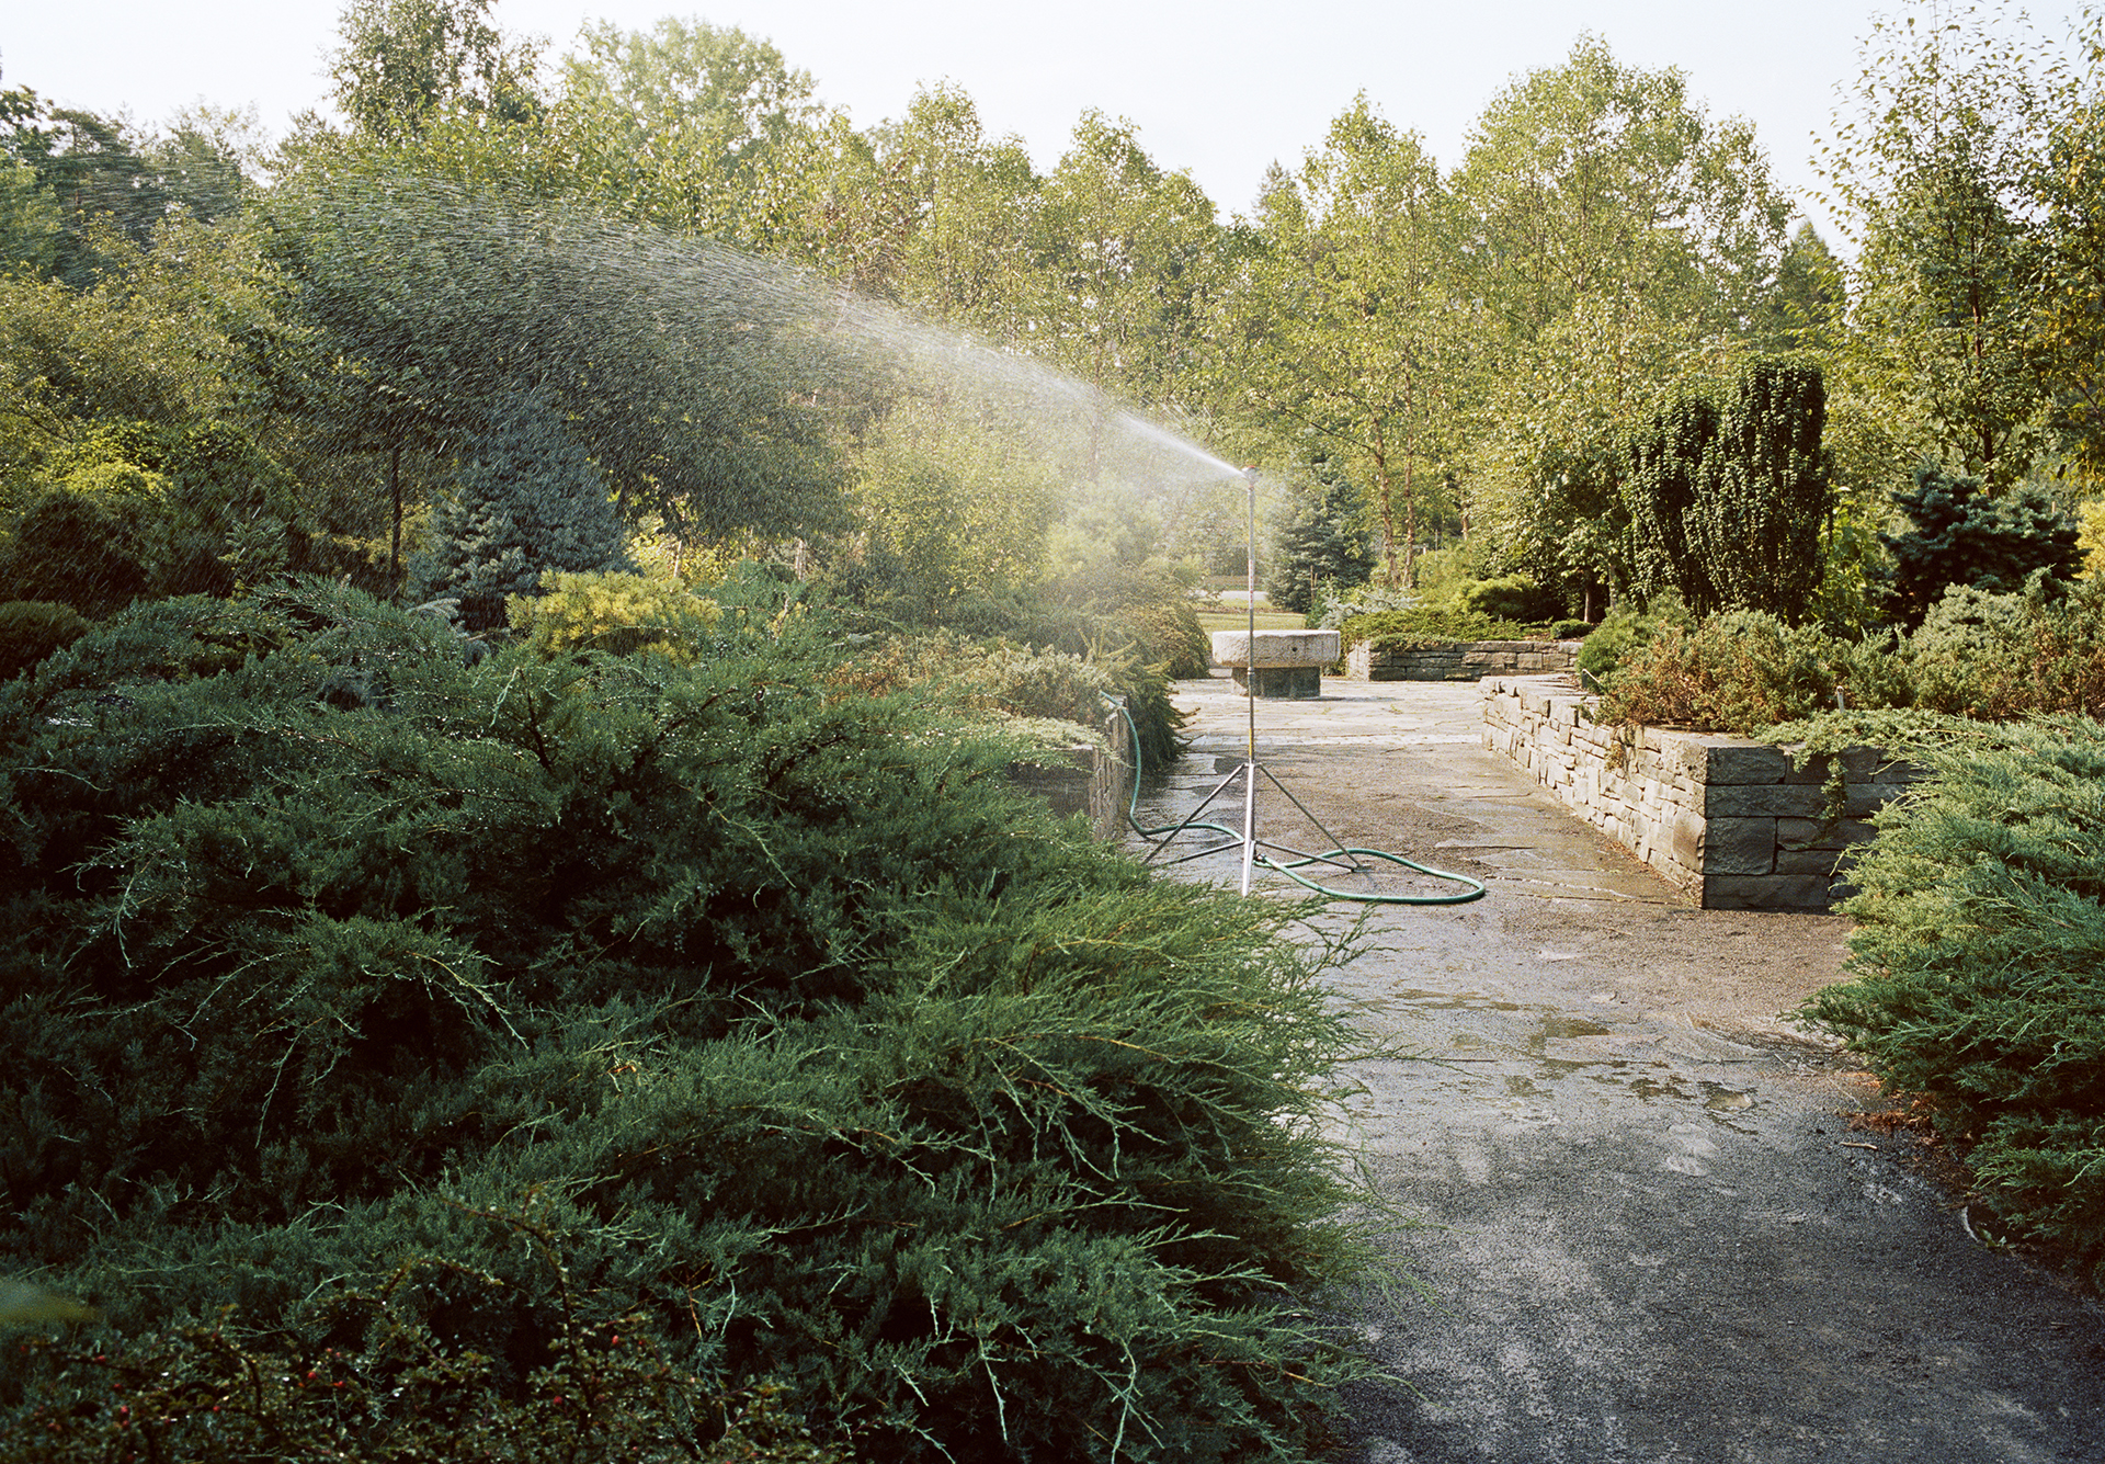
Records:
{"label": "tall leafy light-green tree directly behind the dark columnar evergreen", "polygon": [[1471,527],[1492,562],[1570,583],[1577,605],[1615,560],[1602,444],[1673,381],[1730,367],[1772,289],[1785,202],[1745,122],[1598,38],[1492,99],[1455,192],[1486,339]]}

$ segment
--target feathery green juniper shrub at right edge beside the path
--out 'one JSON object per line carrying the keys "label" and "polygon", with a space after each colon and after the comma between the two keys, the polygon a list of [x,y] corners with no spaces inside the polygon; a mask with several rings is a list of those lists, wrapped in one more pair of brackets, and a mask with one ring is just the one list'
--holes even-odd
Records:
{"label": "feathery green juniper shrub at right edge beside the path", "polygon": [[1855,980],[1808,1015],[1934,1102],[2004,1224],[2105,1281],[2105,727],[1945,725],[1844,906]]}

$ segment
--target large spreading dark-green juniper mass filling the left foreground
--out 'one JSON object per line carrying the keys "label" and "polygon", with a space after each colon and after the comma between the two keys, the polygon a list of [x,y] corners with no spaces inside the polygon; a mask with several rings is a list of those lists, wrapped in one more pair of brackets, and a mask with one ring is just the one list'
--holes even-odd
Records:
{"label": "large spreading dark-green juniper mass filling the left foreground", "polygon": [[1282,912],[831,685],[775,583],[716,598],[693,659],[474,661],[322,583],[166,600],[0,687],[0,1266],[99,1310],[0,1359],[0,1428],[1324,1445],[1349,1034]]}

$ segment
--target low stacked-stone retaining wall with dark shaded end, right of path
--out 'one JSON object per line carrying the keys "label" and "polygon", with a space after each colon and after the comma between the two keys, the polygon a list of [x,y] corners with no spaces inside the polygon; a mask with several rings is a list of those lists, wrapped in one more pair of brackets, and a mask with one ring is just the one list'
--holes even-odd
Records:
{"label": "low stacked-stone retaining wall with dark shaded end, right of path", "polygon": [[1836,862],[1911,782],[1876,748],[1842,754],[1844,817],[1827,819],[1825,758],[1793,771],[1747,737],[1593,723],[1562,678],[1484,680],[1484,746],[1623,843],[1705,910],[1827,910]]}

